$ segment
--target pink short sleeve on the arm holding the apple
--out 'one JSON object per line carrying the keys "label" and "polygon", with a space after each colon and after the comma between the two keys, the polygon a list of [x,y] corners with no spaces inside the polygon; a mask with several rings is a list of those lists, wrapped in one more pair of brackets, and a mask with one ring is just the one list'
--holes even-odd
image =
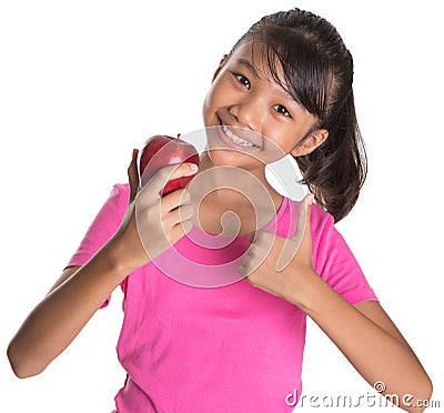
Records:
{"label": "pink short sleeve on the arm holding the apple", "polygon": [[[129,185],[115,184],[110,195],[95,215],[75,253],[69,260],[68,266],[84,265],[119,229],[129,201]],[[124,282],[121,284],[124,290]],[[105,306],[109,302],[102,305]]]}

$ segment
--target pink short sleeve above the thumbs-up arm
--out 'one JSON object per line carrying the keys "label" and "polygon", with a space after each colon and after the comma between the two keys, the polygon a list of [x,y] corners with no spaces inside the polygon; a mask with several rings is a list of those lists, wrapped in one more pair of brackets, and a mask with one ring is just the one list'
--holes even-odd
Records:
{"label": "pink short sleeve above the thumbs-up arm", "polygon": [[352,305],[377,298],[361,266],[334,226],[333,216],[312,209],[313,266],[317,274]]}

